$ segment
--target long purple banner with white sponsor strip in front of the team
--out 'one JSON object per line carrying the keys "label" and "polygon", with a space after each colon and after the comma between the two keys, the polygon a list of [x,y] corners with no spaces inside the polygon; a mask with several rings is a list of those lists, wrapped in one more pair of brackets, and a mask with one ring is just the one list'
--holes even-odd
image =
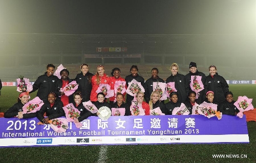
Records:
{"label": "long purple banner with white sponsor strip in front of the team", "polygon": [[245,116],[223,115],[221,120],[203,115],[89,117],[81,128],[69,123],[64,133],[37,122],[36,118],[0,118],[0,146],[249,143]]}

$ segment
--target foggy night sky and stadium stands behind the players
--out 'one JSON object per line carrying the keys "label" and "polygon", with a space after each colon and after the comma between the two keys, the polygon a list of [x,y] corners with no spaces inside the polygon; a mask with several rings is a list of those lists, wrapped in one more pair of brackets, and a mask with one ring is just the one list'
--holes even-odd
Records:
{"label": "foggy night sky and stadium stands behind the players", "polygon": [[[0,0],[0,78],[35,80],[48,63],[62,63],[72,78],[85,62],[92,73],[117,66],[122,77],[137,64],[145,79],[158,67],[166,79],[173,62],[186,75],[194,61],[206,76],[216,65],[226,80],[255,80],[255,36],[254,0]],[[127,51],[96,52],[103,47]]]}

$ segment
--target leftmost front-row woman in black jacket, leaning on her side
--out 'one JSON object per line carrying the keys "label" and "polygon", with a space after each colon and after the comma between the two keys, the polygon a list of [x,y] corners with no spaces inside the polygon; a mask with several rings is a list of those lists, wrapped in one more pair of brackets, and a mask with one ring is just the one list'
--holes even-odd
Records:
{"label": "leftmost front-row woman in black jacket, leaning on her side", "polygon": [[22,107],[29,101],[29,94],[27,92],[21,92],[18,96],[18,102],[9,108],[5,113],[5,118],[17,117],[19,119],[28,119],[36,117],[37,112],[23,113]]}

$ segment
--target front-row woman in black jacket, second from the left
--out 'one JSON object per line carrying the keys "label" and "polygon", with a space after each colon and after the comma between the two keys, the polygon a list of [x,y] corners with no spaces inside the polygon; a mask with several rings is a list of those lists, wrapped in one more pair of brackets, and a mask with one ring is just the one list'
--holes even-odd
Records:
{"label": "front-row woman in black jacket, second from the left", "polygon": [[[48,101],[45,102],[38,111],[37,118],[40,122],[49,124],[49,120],[65,116],[65,112],[62,107],[63,103],[60,100],[56,100],[56,95],[51,92],[48,95]],[[44,117],[45,112],[47,116],[46,118]]]}

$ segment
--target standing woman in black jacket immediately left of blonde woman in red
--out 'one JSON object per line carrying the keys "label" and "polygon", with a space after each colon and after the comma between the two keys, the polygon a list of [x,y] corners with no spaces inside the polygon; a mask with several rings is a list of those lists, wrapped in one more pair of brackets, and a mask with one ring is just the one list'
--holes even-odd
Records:
{"label": "standing woman in black jacket immediately left of blonde woman in red", "polygon": [[77,91],[81,92],[82,102],[87,102],[91,96],[93,74],[89,73],[88,64],[83,63],[80,67],[81,73],[76,75],[75,81],[79,84]]}

